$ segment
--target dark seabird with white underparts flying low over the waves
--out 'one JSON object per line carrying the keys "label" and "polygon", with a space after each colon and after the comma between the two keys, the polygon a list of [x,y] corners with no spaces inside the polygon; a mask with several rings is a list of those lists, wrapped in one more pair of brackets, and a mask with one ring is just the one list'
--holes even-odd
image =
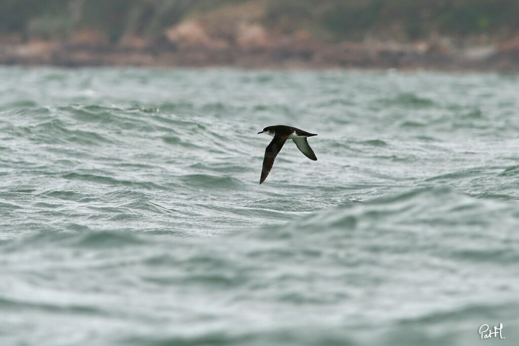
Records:
{"label": "dark seabird with white underparts flying low over the waves", "polygon": [[272,139],[270,144],[267,145],[267,148],[265,149],[260,184],[265,181],[268,173],[270,173],[272,165],[274,164],[274,159],[283,147],[283,144],[285,144],[286,140],[294,141],[297,148],[301,150],[301,153],[305,154],[305,156],[310,160],[317,161],[316,154],[313,153],[312,148],[310,148],[310,145],[306,140],[307,137],[317,136],[315,133],[306,132],[296,129],[295,127],[284,125],[267,126],[263,129],[263,131],[258,132],[258,134],[260,133],[266,133],[274,137],[274,139]]}

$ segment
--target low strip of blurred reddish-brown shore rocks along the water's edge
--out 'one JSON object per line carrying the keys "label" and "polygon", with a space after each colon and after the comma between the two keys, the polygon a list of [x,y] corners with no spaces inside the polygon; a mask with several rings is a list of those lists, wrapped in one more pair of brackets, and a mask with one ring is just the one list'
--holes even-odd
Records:
{"label": "low strip of blurred reddish-brown shore rocks along the water's edge", "polygon": [[272,69],[438,70],[519,72],[519,40],[509,45],[452,48],[435,43],[292,41],[264,47],[141,47],[30,41],[0,45],[0,65],[237,67]]}

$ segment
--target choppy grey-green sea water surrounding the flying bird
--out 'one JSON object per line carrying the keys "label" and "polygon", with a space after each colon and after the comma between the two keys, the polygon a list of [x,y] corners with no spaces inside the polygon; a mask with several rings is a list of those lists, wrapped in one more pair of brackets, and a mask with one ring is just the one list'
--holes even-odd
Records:
{"label": "choppy grey-green sea water surrounding the flying bird", "polygon": [[0,80],[0,344],[518,344],[519,77]]}

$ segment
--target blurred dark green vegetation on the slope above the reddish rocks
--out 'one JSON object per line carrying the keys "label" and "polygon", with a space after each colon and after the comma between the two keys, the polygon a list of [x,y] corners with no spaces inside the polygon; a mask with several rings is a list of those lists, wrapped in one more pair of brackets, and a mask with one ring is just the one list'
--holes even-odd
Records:
{"label": "blurred dark green vegetation on the slope above the reddish rocks", "polygon": [[264,9],[258,21],[272,32],[305,30],[331,41],[519,31],[517,0],[0,0],[0,34],[60,38],[88,27],[111,41],[156,38],[183,19],[247,2]]}

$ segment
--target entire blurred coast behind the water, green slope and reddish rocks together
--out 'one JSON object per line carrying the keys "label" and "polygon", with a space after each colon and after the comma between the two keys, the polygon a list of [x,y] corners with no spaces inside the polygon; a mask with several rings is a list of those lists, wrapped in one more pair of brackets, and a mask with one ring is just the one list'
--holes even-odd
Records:
{"label": "entire blurred coast behind the water, green slope and reddish rocks together", "polygon": [[519,71],[512,0],[3,0],[0,64]]}

